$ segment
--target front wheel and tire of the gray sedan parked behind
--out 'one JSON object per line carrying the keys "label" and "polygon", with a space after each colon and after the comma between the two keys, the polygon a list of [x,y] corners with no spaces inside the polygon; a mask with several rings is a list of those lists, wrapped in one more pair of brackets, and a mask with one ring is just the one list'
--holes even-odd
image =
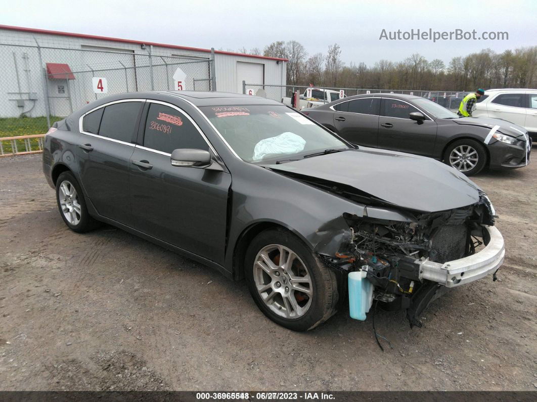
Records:
{"label": "front wheel and tire of the gray sedan parked behind", "polygon": [[447,147],[444,163],[466,176],[473,176],[481,172],[487,164],[487,151],[483,144],[464,138]]}

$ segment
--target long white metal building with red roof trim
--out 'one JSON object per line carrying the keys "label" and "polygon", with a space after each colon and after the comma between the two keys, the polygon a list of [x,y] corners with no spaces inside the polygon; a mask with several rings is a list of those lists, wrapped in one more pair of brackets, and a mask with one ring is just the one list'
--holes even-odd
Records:
{"label": "long white metal building with red roof trim", "polygon": [[[0,25],[0,118],[64,116],[106,94],[174,90],[243,92],[251,84],[286,84],[286,59],[105,36]],[[95,92],[104,77],[107,92]],[[282,88],[281,97],[284,96]]]}

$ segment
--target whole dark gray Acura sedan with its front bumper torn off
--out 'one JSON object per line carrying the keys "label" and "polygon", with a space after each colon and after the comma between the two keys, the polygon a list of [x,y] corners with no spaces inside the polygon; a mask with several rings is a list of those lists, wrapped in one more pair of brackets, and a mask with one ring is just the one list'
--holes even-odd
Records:
{"label": "whole dark gray Acura sedan with its front bumper torn off", "polygon": [[353,318],[376,303],[420,325],[433,299],[504,258],[494,208],[463,174],[357,147],[259,97],[96,100],[48,131],[43,172],[70,229],[105,222],[244,278],[297,331],[347,300]]}

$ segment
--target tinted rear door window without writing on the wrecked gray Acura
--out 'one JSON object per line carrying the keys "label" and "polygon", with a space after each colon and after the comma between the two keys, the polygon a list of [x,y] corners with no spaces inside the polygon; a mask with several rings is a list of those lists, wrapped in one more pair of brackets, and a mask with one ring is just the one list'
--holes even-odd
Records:
{"label": "tinted rear door window without writing on the wrecked gray Acura", "polygon": [[104,108],[99,135],[132,142],[143,102],[121,102]]}

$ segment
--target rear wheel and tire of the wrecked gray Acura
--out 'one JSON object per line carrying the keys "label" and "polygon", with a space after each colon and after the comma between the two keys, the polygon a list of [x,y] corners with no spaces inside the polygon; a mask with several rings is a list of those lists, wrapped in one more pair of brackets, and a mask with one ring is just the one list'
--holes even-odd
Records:
{"label": "rear wheel and tire of the wrecked gray Acura", "polygon": [[99,226],[88,213],[82,188],[71,172],[63,172],[56,180],[56,202],[63,222],[72,231],[83,233]]}

